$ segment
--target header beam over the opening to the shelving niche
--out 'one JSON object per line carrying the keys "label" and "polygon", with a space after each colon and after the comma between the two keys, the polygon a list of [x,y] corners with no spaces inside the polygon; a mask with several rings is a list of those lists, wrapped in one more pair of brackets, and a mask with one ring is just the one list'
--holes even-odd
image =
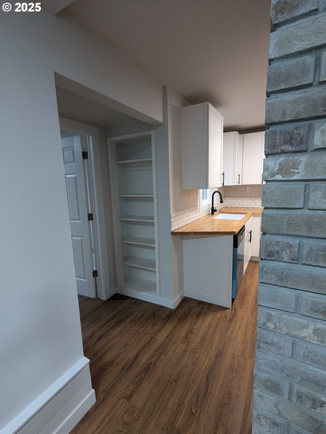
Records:
{"label": "header beam over the opening to the shelving niche", "polygon": [[53,69],[66,78],[57,84],[144,122],[162,122],[160,83],[69,15],[44,12],[40,21]]}

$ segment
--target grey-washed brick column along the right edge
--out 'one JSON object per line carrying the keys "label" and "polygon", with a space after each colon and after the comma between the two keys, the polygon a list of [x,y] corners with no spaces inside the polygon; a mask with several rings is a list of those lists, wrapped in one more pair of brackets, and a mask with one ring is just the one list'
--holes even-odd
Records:
{"label": "grey-washed brick column along the right edge", "polygon": [[326,433],[326,1],[271,0],[253,434]]}

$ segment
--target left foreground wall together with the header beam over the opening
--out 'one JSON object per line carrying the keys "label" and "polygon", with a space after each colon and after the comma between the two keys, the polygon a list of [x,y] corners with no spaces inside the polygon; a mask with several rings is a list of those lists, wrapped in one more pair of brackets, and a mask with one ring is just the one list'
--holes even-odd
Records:
{"label": "left foreground wall together with the header beam over the opening", "polygon": [[153,124],[162,101],[159,83],[69,19],[0,14],[4,426],[83,358],[53,70]]}

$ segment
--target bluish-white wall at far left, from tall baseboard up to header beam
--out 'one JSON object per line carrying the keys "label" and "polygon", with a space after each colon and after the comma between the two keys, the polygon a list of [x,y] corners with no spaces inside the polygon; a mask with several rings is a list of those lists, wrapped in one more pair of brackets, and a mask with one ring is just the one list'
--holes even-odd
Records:
{"label": "bluish-white wall at far left, from tall baseboard up to header beam", "polygon": [[1,26],[3,425],[83,357],[53,71],[37,23],[20,34],[12,17]]}

